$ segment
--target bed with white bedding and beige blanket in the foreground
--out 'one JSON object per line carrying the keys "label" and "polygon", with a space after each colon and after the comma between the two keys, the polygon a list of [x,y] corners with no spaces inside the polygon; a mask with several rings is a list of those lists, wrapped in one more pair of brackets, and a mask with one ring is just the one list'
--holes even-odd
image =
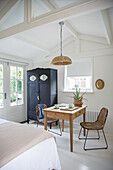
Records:
{"label": "bed with white bedding and beige blanket in the foreground", "polygon": [[0,170],[20,169],[61,170],[55,138],[42,128],[0,119]]}

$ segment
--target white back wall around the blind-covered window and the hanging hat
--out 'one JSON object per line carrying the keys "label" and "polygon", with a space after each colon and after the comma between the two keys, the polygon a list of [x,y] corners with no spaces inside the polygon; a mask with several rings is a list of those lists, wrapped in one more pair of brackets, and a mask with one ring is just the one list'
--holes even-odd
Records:
{"label": "white back wall around the blind-covered window and the hanging hat", "polygon": [[[90,44],[90,45],[89,45]],[[108,118],[105,126],[107,133],[113,134],[113,53],[111,47],[108,45],[102,45],[92,43],[88,41],[81,41],[79,51],[75,50],[76,43],[72,43],[63,48],[63,53],[67,56],[72,56],[72,59],[89,58],[93,57],[93,93],[86,93],[85,98],[87,101],[83,101],[87,105],[87,110],[99,111],[102,107],[108,108]],[[97,50],[96,50],[97,49]],[[110,50],[108,50],[110,49]],[[79,52],[79,53],[78,53]],[[107,54],[106,54],[107,53]],[[51,56],[57,56],[56,53]],[[50,56],[50,59],[51,59]],[[50,67],[58,69],[58,102],[59,103],[73,103],[73,98],[70,92],[63,92],[64,88],[64,66],[53,66],[51,60],[43,63],[35,63],[35,67]],[[102,90],[98,90],[95,87],[97,79],[102,79],[105,86]]]}

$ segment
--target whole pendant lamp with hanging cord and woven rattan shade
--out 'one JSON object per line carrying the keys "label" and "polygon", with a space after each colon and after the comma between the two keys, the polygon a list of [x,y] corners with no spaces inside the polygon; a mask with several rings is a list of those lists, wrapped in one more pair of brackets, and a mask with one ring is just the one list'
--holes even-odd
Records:
{"label": "whole pendant lamp with hanging cord and woven rattan shade", "polygon": [[64,22],[59,22],[60,25],[60,50],[61,50],[61,54],[58,57],[55,57],[51,64],[54,65],[69,65],[72,64],[72,60],[67,57],[67,56],[63,56],[62,55],[62,26],[64,25]]}

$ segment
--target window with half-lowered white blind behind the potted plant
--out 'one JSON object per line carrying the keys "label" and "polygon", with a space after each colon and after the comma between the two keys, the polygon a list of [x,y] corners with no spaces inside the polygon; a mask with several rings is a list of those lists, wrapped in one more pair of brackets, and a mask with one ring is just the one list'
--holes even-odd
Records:
{"label": "window with half-lowered white blind behind the potted plant", "polygon": [[92,92],[92,60],[77,60],[65,67],[65,91],[74,91],[78,85],[81,91]]}

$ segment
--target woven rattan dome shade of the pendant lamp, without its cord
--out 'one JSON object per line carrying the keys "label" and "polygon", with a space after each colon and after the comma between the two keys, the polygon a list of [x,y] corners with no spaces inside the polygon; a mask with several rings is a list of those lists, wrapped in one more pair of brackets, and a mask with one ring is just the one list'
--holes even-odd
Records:
{"label": "woven rattan dome shade of the pendant lamp, without its cord", "polygon": [[66,56],[58,56],[58,57],[55,57],[52,62],[52,64],[54,65],[68,65],[68,64],[71,64],[72,61],[69,57],[66,57]]}

